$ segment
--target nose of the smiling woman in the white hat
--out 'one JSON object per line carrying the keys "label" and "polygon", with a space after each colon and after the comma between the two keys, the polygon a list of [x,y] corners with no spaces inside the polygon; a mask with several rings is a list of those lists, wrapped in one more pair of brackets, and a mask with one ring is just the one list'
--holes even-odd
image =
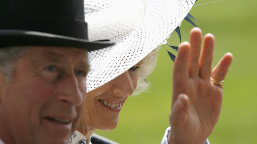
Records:
{"label": "nose of the smiling woman in the white hat", "polygon": [[134,86],[128,71],[113,80],[112,92],[120,96],[132,95]]}

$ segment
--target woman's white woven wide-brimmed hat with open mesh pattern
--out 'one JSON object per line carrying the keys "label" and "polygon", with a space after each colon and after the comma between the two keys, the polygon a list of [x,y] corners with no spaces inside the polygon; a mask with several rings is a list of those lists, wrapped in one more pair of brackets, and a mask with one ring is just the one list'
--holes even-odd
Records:
{"label": "woman's white woven wide-brimmed hat with open mesh pattern", "polygon": [[195,0],[87,0],[85,21],[90,41],[116,44],[89,52],[90,92],[121,75],[154,50],[179,26]]}

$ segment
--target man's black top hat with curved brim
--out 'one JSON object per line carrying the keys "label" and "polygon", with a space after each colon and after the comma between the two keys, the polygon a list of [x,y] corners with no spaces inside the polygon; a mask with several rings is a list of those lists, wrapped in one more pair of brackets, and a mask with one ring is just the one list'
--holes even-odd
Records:
{"label": "man's black top hat with curved brim", "polygon": [[60,46],[88,51],[114,45],[88,41],[83,0],[0,0],[0,48]]}

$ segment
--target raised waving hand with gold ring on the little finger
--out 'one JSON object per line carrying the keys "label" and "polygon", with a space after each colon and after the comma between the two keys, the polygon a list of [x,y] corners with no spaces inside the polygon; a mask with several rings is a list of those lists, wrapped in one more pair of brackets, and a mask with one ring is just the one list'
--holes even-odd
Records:
{"label": "raised waving hand with gold ring on the little finger", "polygon": [[232,62],[226,53],[211,70],[214,36],[206,34],[201,51],[202,31],[193,28],[190,41],[179,45],[173,69],[172,107],[169,116],[169,144],[204,144],[221,111],[222,81]]}

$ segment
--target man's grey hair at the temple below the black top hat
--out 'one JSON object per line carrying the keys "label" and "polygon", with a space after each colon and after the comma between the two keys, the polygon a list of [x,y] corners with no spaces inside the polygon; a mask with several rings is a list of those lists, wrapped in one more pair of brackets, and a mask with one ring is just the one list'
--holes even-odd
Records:
{"label": "man's grey hair at the temple below the black top hat", "polygon": [[27,49],[27,47],[20,46],[0,48],[0,71],[5,74],[8,82],[12,81],[17,59],[19,59]]}

